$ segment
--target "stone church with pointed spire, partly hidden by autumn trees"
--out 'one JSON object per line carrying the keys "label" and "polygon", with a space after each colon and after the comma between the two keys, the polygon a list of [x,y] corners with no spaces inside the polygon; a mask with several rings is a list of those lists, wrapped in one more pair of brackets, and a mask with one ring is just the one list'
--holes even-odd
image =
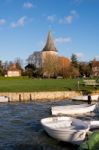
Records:
{"label": "stone church with pointed spire, partly hidden by autumn trees", "polygon": [[[65,68],[70,66],[70,60],[58,55],[51,32],[45,46],[41,51],[35,51],[28,57],[28,64],[32,64],[36,69],[42,69],[43,77],[56,77],[61,75]],[[62,72],[61,72],[62,71]],[[65,72],[65,71],[64,71]]]}

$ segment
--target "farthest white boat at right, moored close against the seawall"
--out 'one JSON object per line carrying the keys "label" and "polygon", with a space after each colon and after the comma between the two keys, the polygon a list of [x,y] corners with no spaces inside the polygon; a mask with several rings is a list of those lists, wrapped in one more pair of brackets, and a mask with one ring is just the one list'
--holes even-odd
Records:
{"label": "farthest white boat at right, moored close against the seawall", "polygon": [[[90,95],[92,101],[98,101],[99,95]],[[78,100],[78,101],[88,101],[88,95],[81,95],[81,96],[75,96],[71,98],[72,100]]]}

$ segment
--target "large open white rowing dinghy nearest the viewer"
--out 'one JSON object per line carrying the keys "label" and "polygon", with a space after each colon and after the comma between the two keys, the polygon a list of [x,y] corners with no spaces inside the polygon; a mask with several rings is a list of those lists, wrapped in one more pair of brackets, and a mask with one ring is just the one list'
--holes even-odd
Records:
{"label": "large open white rowing dinghy nearest the viewer", "polygon": [[41,124],[51,137],[64,142],[80,144],[89,131],[88,123],[72,117],[48,117]]}

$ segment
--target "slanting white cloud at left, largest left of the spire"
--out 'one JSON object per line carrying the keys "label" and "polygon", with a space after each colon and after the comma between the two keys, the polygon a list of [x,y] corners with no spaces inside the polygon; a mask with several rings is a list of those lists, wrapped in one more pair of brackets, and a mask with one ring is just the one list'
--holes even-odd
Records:
{"label": "slanting white cloud at left, largest left of the spire", "polygon": [[24,26],[25,21],[26,21],[26,16],[23,16],[23,17],[19,18],[16,22],[12,22],[11,27],[12,28],[22,27],[22,26]]}

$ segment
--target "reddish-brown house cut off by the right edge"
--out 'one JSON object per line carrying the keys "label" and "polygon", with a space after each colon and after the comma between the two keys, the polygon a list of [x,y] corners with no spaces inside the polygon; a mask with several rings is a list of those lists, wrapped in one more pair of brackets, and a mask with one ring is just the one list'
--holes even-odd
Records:
{"label": "reddish-brown house cut off by the right edge", "polygon": [[99,76],[99,61],[96,59],[92,62],[92,74],[93,76]]}

